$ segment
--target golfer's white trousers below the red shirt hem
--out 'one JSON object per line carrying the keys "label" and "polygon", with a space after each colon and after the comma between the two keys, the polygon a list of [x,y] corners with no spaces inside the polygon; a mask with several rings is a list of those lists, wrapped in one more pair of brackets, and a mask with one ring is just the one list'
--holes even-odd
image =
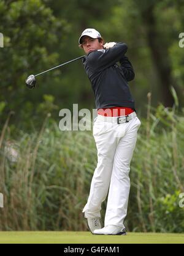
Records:
{"label": "golfer's white trousers below the red shirt hem", "polygon": [[130,163],[140,124],[137,117],[121,124],[104,122],[98,117],[95,119],[93,137],[98,150],[98,164],[91,181],[88,202],[82,210],[85,218],[101,217],[101,204],[109,190],[104,226],[125,228],[123,222],[128,207]]}

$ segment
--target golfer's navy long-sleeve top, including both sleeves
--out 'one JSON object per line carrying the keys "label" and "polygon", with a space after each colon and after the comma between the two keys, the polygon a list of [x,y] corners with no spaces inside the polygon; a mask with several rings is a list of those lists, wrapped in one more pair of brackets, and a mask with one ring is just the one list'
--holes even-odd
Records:
{"label": "golfer's navy long-sleeve top, including both sleeves", "polygon": [[125,106],[135,110],[128,86],[128,82],[134,79],[134,70],[125,56],[127,49],[126,44],[118,42],[109,49],[94,50],[83,58],[96,108]]}

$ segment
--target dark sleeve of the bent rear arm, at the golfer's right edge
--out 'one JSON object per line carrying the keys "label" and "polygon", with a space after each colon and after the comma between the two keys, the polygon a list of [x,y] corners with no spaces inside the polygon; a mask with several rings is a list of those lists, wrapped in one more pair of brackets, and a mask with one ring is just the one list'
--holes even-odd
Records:
{"label": "dark sleeve of the bent rear arm, at the golfer's right edge", "polygon": [[120,59],[120,68],[123,71],[126,81],[132,81],[135,77],[134,69],[125,55]]}

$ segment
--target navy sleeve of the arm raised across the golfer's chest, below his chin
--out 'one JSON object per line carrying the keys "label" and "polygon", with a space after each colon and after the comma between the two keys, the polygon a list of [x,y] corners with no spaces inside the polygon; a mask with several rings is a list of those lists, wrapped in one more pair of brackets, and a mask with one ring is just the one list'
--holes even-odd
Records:
{"label": "navy sleeve of the arm raised across the golfer's chest, below his chin", "polygon": [[94,70],[103,70],[119,62],[128,47],[122,42],[106,50],[95,50],[88,54],[88,65]]}

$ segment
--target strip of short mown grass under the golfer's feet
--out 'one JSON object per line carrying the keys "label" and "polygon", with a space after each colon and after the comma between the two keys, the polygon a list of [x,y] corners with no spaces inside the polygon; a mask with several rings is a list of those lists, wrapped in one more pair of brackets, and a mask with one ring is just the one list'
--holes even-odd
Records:
{"label": "strip of short mown grass under the golfer's feet", "polygon": [[72,231],[0,231],[0,244],[184,244],[184,234],[128,233],[99,236]]}

